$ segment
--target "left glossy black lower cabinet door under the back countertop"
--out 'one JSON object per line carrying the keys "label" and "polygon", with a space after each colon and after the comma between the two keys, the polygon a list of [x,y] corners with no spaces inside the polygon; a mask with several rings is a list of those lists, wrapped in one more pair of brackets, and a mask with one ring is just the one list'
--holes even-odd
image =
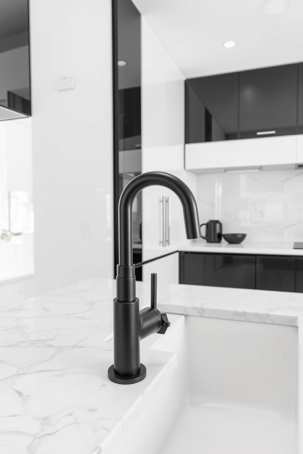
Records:
{"label": "left glossy black lower cabinet door under the back countertop", "polygon": [[240,254],[180,253],[180,283],[255,288],[255,257]]}

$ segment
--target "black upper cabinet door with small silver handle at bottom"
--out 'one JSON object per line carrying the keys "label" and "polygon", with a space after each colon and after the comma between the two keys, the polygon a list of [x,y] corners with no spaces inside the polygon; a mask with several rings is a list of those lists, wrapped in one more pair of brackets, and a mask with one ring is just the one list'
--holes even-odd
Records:
{"label": "black upper cabinet door with small silver handle at bottom", "polygon": [[239,136],[296,134],[297,64],[240,73]]}

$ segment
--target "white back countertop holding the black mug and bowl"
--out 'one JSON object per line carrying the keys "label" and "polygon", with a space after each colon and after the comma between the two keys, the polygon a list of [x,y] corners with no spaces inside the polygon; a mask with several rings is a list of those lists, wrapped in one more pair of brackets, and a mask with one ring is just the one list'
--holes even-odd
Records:
{"label": "white back countertop holding the black mug and bowl", "polygon": [[224,240],[222,243],[207,243],[203,238],[199,238],[182,244],[178,247],[178,251],[303,256],[303,249],[293,249],[293,244],[293,242],[249,242],[246,240],[240,244],[228,244]]}

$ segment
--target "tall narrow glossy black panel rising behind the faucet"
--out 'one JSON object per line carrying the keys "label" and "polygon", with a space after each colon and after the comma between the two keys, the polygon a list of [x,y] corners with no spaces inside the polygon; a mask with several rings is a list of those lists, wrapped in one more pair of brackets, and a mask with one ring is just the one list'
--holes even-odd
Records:
{"label": "tall narrow glossy black panel rising behind the faucet", "polygon": [[[118,264],[119,197],[141,173],[141,17],[131,0],[113,0],[114,59],[114,276]],[[120,64],[118,65],[118,62]],[[124,62],[124,65],[121,63]],[[142,196],[133,207],[133,262],[142,261]],[[136,269],[142,280],[142,268]]]}

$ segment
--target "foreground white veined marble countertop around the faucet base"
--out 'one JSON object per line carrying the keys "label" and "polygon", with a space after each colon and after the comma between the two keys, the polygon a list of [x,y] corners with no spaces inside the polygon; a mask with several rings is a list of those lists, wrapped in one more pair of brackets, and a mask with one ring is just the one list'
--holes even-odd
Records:
{"label": "foreground white veined marble countertop around the faucet base", "polygon": [[[150,336],[141,342],[147,378],[109,381],[114,296],[114,280],[90,279],[16,305],[0,302],[1,454],[110,452],[139,418],[176,358],[144,344],[157,335]],[[149,304],[149,283],[137,283],[137,296]],[[159,283],[158,301],[170,313],[298,326],[301,414],[302,294]]]}

